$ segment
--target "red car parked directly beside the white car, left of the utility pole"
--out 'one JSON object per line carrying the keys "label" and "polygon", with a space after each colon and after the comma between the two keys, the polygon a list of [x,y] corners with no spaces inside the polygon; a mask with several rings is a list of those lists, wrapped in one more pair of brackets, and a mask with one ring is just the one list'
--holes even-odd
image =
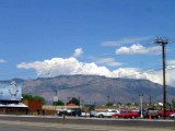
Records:
{"label": "red car parked directly beside the white car, left of the utility pole", "polygon": [[125,110],[125,111],[120,111],[120,114],[115,114],[113,117],[115,118],[131,118],[131,119],[135,119],[135,118],[138,118],[140,117],[140,114],[137,112],[137,111],[130,111],[130,110]]}

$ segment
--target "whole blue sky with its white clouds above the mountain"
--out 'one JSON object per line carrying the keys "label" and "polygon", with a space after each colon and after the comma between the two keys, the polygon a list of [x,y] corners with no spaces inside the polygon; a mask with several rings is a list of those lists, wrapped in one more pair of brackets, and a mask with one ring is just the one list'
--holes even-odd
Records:
{"label": "whole blue sky with its white clouds above the mountain", "polygon": [[0,80],[94,74],[175,86],[174,0],[0,0]]}

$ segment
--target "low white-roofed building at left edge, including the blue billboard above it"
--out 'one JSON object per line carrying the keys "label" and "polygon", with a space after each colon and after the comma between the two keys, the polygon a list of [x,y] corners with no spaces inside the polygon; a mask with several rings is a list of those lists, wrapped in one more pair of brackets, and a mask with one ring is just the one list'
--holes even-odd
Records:
{"label": "low white-roofed building at left edge, including the blue billboard above it", "polygon": [[27,114],[25,104],[22,99],[22,84],[16,84],[14,81],[0,83],[0,114],[3,115],[24,115]]}

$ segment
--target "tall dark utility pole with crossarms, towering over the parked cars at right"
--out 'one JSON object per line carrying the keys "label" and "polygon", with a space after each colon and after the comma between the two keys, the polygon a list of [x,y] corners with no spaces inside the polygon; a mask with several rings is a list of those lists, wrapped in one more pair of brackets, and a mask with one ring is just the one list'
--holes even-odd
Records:
{"label": "tall dark utility pole with crossarms, towering over the parked cars at right", "polygon": [[163,64],[163,118],[166,119],[166,64],[165,64],[165,46],[168,44],[167,38],[156,38],[155,44],[162,46],[162,64]]}

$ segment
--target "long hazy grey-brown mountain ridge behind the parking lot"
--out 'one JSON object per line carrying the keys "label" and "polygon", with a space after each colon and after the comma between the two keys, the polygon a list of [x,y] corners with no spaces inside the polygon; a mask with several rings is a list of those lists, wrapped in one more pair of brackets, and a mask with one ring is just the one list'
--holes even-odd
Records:
{"label": "long hazy grey-brown mountain ridge behind the parking lot", "polygon": [[[47,103],[58,92],[59,99],[65,103],[68,97],[79,97],[84,104],[106,104],[110,102],[139,103],[139,94],[143,94],[143,102],[162,102],[163,87],[148,80],[110,79],[97,75],[60,75],[56,78],[39,78],[36,80],[18,80],[23,82],[23,93],[40,95]],[[167,100],[174,98],[175,87],[167,87]]]}

